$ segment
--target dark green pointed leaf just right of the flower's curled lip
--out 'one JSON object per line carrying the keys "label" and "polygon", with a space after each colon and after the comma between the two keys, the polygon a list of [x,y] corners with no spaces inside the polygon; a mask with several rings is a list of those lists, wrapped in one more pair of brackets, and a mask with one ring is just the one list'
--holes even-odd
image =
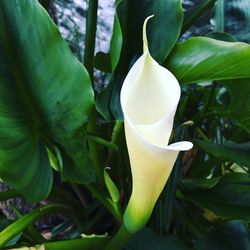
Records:
{"label": "dark green pointed leaf just right of the flower's curled lip", "polygon": [[199,140],[197,144],[222,161],[232,161],[250,168],[250,142],[215,144]]}

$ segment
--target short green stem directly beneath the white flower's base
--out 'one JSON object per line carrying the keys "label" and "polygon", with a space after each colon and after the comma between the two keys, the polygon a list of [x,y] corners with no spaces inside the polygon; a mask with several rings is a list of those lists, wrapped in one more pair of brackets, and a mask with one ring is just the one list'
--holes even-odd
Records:
{"label": "short green stem directly beneath the white flower's base", "polygon": [[132,234],[122,225],[105,250],[122,250]]}

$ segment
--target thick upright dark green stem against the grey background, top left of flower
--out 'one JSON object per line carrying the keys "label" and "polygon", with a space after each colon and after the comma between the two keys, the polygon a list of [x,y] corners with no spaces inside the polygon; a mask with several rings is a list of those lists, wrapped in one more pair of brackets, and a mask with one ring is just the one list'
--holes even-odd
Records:
{"label": "thick upright dark green stem against the grey background, top left of flower", "polygon": [[95,38],[97,24],[98,0],[89,0],[87,22],[86,22],[86,38],[84,51],[84,65],[89,72],[90,79],[93,83],[93,68],[95,54]]}

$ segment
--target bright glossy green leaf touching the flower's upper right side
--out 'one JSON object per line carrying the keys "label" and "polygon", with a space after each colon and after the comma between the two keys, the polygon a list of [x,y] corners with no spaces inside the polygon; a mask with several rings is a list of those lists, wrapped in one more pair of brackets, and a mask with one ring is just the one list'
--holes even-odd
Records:
{"label": "bright glossy green leaf touching the flower's upper right side", "polygon": [[175,46],[164,66],[182,83],[250,77],[250,45],[195,37]]}

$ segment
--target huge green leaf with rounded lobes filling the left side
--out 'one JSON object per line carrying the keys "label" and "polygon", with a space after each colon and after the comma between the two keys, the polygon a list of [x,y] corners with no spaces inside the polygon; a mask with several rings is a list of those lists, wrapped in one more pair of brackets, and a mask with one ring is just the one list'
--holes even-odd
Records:
{"label": "huge green leaf with rounded lobes filling the left side", "polygon": [[90,182],[77,135],[93,105],[90,80],[37,0],[0,1],[0,89],[0,178],[29,201],[45,198],[45,145],[55,143],[75,159],[64,178]]}

